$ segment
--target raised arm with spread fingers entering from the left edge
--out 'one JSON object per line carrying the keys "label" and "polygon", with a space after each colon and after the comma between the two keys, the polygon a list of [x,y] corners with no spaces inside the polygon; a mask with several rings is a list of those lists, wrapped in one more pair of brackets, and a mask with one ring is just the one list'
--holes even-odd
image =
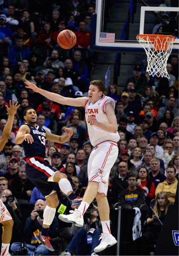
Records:
{"label": "raised arm with spread fingers entering from the left edge", "polygon": [[6,144],[6,142],[8,141],[8,139],[10,137],[11,130],[13,127],[14,115],[19,107],[20,107],[20,105],[18,105],[18,102],[16,102],[14,105],[14,100],[13,100],[13,103],[11,103],[11,101],[9,102],[9,108],[8,108],[8,106],[6,106],[6,109],[9,113],[9,117],[8,117],[8,121],[4,127],[3,134],[0,138],[0,151],[4,148],[4,145]]}

